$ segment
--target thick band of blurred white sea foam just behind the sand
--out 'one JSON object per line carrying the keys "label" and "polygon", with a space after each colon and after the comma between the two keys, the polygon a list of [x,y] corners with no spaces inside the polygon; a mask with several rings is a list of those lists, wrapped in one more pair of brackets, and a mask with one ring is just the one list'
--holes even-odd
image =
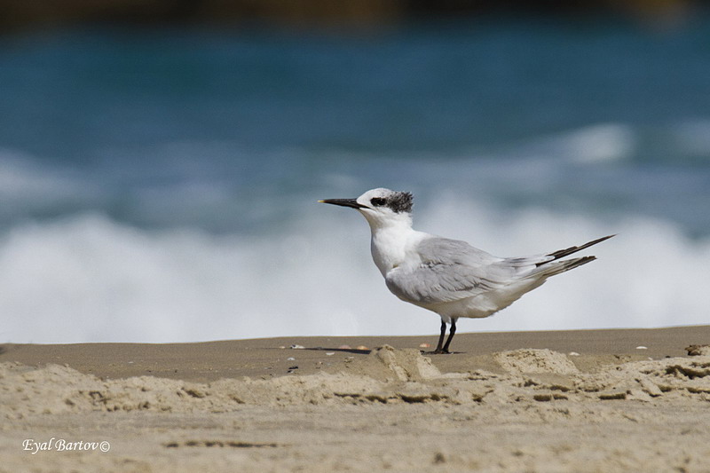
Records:
{"label": "thick band of blurred white sea foam just behind the sand", "polygon": [[[434,212],[433,209],[437,211]],[[150,232],[100,215],[15,226],[0,240],[0,340],[187,342],[278,335],[435,335],[433,312],[398,301],[354,211],[313,203],[261,237]],[[644,218],[601,223],[526,210],[496,215],[443,196],[417,228],[493,254],[552,251],[609,233],[599,260],[549,280],[461,331],[707,323],[710,241]]]}

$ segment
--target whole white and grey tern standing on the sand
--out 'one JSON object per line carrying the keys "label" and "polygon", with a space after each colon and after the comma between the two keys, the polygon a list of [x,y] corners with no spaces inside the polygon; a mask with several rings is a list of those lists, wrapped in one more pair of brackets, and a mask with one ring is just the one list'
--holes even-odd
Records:
{"label": "whole white and grey tern standing on the sand", "polygon": [[[596,256],[561,259],[614,235],[552,253],[498,257],[412,228],[412,193],[377,188],[357,199],[325,199],[322,203],[357,209],[367,219],[370,249],[387,288],[410,304],[441,317],[441,335],[433,354],[449,353],[456,321],[484,318],[539,288],[550,276],[588,264]],[[446,324],[449,336],[444,343]]]}

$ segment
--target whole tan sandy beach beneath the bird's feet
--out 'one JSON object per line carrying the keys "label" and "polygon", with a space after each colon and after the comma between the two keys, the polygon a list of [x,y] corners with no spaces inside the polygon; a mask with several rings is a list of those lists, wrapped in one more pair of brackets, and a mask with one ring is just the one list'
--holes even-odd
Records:
{"label": "whole tan sandy beach beneath the bird's feet", "polygon": [[0,471],[710,471],[710,326],[426,343],[0,345]]}

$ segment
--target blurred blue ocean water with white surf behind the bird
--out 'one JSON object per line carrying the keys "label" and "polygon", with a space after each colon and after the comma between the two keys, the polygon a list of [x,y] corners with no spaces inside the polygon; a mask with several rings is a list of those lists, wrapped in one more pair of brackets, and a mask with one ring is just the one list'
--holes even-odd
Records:
{"label": "blurred blue ocean water with white surf behind the bird", "polygon": [[0,38],[0,341],[436,335],[351,209],[499,256],[618,233],[460,331],[710,321],[710,16]]}

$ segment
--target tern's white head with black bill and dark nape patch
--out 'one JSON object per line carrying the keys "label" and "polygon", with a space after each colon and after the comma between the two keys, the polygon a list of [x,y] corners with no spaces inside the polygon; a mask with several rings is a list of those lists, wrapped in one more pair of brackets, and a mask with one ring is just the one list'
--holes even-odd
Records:
{"label": "tern's white head with black bill and dark nape patch", "polygon": [[373,229],[412,221],[412,193],[390,191],[382,187],[363,193],[357,199],[325,199],[320,201],[358,209]]}

